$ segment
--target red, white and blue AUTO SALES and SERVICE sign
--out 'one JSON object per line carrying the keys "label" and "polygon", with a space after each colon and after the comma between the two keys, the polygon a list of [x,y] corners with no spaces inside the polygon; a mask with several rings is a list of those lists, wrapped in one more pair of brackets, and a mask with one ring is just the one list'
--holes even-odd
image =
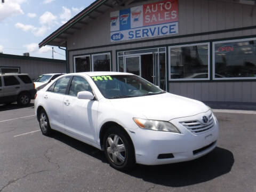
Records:
{"label": "red, white and blue AUTO SALES and SERVICE sign", "polygon": [[110,13],[111,42],[178,34],[178,0]]}

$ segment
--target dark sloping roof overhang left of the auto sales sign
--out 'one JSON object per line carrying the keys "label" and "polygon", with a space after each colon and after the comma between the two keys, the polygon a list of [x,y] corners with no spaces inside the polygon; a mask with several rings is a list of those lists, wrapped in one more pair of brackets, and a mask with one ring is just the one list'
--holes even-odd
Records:
{"label": "dark sloping roof overhang left of the auto sales sign", "polygon": [[77,30],[88,25],[89,22],[97,19],[100,15],[104,14],[109,9],[113,9],[115,6],[122,5],[124,2],[125,4],[131,4],[134,1],[135,0],[96,0],[59,29],[55,30],[51,35],[47,36],[39,43],[39,47],[41,48],[45,45],[65,47],[67,38],[74,35]]}

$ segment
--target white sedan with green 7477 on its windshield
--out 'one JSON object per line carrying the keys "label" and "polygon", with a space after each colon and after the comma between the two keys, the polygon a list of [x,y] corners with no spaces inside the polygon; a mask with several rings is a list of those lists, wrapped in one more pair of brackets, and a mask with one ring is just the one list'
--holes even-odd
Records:
{"label": "white sedan with green 7477 on its windshield", "polygon": [[63,75],[37,92],[44,135],[60,131],[105,152],[118,170],[189,161],[217,145],[218,121],[200,101],[116,72]]}

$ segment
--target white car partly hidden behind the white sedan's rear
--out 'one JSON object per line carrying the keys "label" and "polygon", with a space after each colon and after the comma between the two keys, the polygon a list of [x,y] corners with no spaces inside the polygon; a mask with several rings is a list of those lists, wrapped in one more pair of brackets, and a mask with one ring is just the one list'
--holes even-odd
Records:
{"label": "white car partly hidden behind the white sedan's rear", "polygon": [[53,81],[55,78],[63,75],[63,73],[52,73],[52,74],[43,74],[37,77],[34,81],[36,90],[41,90],[45,87],[48,83]]}

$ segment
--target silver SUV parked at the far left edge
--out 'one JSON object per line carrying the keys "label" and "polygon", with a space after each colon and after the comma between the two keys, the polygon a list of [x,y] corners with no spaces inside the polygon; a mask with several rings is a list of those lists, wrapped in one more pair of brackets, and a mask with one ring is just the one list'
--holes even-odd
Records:
{"label": "silver SUV parked at the far left edge", "polygon": [[0,74],[0,103],[17,101],[26,106],[35,98],[35,85],[28,74]]}

